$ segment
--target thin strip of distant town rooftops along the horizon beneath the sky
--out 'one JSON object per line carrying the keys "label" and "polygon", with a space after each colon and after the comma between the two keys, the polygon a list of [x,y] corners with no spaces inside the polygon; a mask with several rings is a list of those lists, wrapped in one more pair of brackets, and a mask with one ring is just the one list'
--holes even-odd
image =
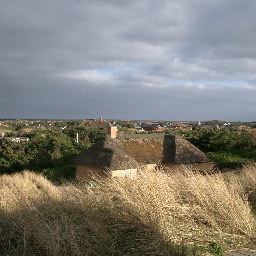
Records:
{"label": "thin strip of distant town rooftops along the horizon beneath the sky", "polygon": [[[1,137],[6,133],[28,133],[33,129],[39,130],[63,130],[66,124],[76,123],[92,123],[95,125],[101,122],[109,122],[118,128],[130,128],[134,131],[165,131],[165,130],[191,130],[191,129],[215,129],[215,128],[232,128],[232,127],[256,127],[256,121],[252,122],[229,122],[222,120],[209,120],[209,121],[145,121],[145,120],[104,120],[102,117],[99,119],[88,118],[85,120],[46,120],[46,119],[0,119]],[[86,125],[86,124],[85,124]],[[88,125],[88,124],[87,124]],[[97,128],[97,125],[96,127]]]}

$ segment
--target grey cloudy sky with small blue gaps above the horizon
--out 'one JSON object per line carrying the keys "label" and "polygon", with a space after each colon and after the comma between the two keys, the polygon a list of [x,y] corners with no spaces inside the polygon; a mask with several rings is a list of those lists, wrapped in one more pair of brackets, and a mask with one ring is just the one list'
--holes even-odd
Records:
{"label": "grey cloudy sky with small blue gaps above the horizon", "polygon": [[255,0],[0,0],[0,118],[256,120]]}

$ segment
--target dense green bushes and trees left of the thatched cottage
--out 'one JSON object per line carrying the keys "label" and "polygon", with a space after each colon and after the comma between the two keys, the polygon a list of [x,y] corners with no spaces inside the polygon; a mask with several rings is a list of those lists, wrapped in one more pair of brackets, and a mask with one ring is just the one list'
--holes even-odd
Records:
{"label": "dense green bushes and trees left of the thatched cottage", "polygon": [[[27,143],[6,141],[0,151],[0,174],[28,169],[43,172],[50,179],[69,177],[71,174],[67,174],[65,168],[70,161],[106,134],[105,130],[72,126],[75,123],[71,122],[65,130],[34,129],[26,134]],[[64,123],[56,123],[60,124]],[[78,144],[74,143],[77,133]]]}

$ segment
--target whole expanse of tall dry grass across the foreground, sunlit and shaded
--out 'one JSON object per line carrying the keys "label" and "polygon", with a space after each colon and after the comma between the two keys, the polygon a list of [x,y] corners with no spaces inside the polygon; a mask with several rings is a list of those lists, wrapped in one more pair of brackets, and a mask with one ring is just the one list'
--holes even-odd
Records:
{"label": "whole expanse of tall dry grass across the foreground, sunlit and shaded", "polygon": [[202,255],[185,246],[255,242],[255,166],[228,179],[184,168],[97,183],[1,176],[0,255]]}

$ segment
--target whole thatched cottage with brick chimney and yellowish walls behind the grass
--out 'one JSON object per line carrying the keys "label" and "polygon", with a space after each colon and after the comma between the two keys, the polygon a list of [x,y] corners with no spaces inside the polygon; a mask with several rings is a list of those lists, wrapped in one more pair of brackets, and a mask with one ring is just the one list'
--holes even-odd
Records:
{"label": "whole thatched cottage with brick chimney and yellowish walls behind the grass", "polygon": [[142,167],[158,169],[183,164],[189,169],[210,170],[213,163],[206,155],[178,135],[109,134],[74,159],[76,177],[93,175],[134,178]]}

